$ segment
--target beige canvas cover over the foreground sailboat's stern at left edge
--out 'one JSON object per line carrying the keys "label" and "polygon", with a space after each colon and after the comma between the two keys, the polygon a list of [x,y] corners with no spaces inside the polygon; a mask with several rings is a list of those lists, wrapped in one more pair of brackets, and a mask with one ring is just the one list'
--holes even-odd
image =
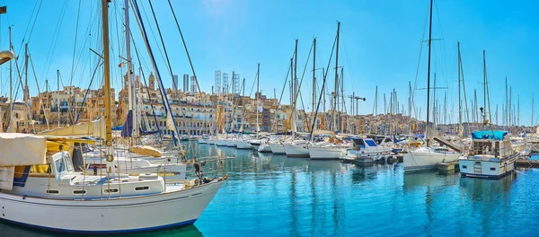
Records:
{"label": "beige canvas cover over the foreground sailboat's stern at left edge", "polygon": [[0,166],[46,164],[47,139],[19,133],[0,134]]}

